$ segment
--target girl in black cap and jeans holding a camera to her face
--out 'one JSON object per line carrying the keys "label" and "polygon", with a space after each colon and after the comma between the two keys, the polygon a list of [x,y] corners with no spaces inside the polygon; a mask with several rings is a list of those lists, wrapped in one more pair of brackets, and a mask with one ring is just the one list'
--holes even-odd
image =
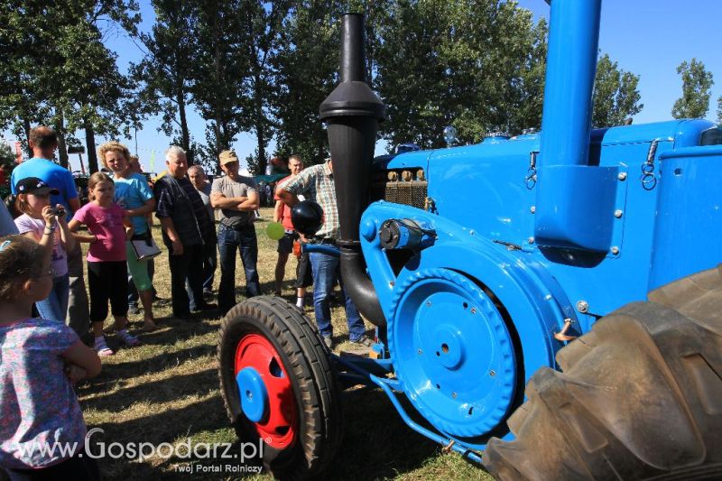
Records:
{"label": "girl in black cap and jeans holding a camera to her face", "polygon": [[23,215],[15,219],[15,226],[23,236],[42,245],[51,263],[52,289],[47,299],[35,303],[42,319],[65,322],[68,311],[69,275],[68,252],[75,247],[62,204],[51,207],[51,194],[58,195],[37,177],[27,177],[15,185],[15,208]]}

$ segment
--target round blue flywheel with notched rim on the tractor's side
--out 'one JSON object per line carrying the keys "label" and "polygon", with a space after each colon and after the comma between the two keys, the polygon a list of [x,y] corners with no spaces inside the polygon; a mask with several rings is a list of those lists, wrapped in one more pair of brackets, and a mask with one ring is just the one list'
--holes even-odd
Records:
{"label": "round blue flywheel with notched rim on the tractor's side", "polygon": [[482,436],[514,398],[512,338],[486,292],[431,268],[394,286],[388,326],[393,367],[414,407],[452,436]]}

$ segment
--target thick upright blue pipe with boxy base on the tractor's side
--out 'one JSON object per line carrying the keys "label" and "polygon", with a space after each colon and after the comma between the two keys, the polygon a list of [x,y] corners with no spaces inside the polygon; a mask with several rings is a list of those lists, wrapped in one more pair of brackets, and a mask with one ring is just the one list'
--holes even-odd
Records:
{"label": "thick upright blue pipe with boxy base on the tractor's side", "polygon": [[553,0],[534,238],[540,247],[605,253],[616,172],[588,165],[602,0]]}

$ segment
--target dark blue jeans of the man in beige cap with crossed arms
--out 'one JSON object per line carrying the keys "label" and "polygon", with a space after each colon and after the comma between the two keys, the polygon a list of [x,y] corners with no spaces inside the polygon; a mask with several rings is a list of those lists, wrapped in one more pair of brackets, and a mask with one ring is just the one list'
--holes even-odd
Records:
{"label": "dark blue jeans of the man in beige cap with crossed arms", "polygon": [[245,270],[245,296],[254,297],[261,294],[261,283],[258,281],[258,271],[255,269],[255,264],[258,262],[255,227],[251,224],[235,229],[221,223],[218,226],[220,256],[218,308],[222,315],[236,305],[236,249],[241,253]]}

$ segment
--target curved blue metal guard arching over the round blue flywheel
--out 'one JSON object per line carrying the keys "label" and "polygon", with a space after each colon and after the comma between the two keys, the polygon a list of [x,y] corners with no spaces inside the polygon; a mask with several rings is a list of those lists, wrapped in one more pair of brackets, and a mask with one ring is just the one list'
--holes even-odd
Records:
{"label": "curved blue metal guard arching over the round blue flywheel", "polygon": [[[378,239],[378,229],[388,218],[411,218],[433,230],[432,245],[416,254],[396,275]],[[563,291],[544,273],[539,254],[507,250],[506,246],[478,236],[447,218],[417,208],[375,202],[361,218],[361,245],[386,319],[396,311],[393,288],[420,270],[444,268],[486,286],[501,302],[523,350],[523,375],[528,380],[542,366],[555,366],[554,356],[563,346],[553,338],[569,317]],[[539,275],[539,272],[543,275]],[[542,280],[546,277],[546,282]]]}

